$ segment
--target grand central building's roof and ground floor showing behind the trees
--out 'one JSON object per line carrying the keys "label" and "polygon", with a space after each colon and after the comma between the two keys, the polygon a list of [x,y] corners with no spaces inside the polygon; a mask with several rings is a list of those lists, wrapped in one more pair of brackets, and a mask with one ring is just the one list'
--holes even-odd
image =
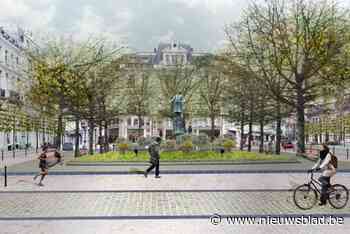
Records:
{"label": "grand central building's roof and ground floor showing behind the trees", "polygon": [[[129,54],[129,64],[125,67],[140,66],[143,69],[171,69],[173,66],[191,66],[195,58],[208,55],[207,52],[195,51],[190,45],[172,41],[160,43],[151,52],[135,52]],[[123,116],[112,124],[109,134],[114,138],[122,137],[133,140],[139,134],[137,116]],[[186,130],[192,134],[210,134],[210,120],[207,118],[193,118],[186,123]],[[142,136],[161,136],[164,139],[172,136],[173,126],[170,119],[152,119],[145,117],[142,123]],[[236,126],[228,123],[223,117],[215,120],[216,135],[230,134],[237,136]]]}

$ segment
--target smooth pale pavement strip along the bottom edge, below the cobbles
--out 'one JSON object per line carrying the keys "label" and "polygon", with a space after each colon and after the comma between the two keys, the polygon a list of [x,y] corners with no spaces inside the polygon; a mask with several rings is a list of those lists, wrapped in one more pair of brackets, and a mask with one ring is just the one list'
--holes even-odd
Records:
{"label": "smooth pale pavement strip along the bottom edge, below the cobbles", "polygon": [[344,225],[229,225],[214,226],[205,219],[191,220],[74,220],[74,221],[0,221],[2,234],[338,234],[347,233]]}

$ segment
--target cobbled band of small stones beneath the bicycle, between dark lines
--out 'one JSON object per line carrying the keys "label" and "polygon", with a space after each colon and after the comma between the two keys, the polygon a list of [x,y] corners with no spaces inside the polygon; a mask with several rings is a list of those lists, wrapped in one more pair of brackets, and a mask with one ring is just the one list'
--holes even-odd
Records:
{"label": "cobbled band of small stones beneath the bicycle, between dark lines", "polygon": [[3,218],[78,218],[138,216],[206,217],[220,215],[350,214],[350,204],[336,210],[296,208],[291,192],[40,192],[1,193]]}

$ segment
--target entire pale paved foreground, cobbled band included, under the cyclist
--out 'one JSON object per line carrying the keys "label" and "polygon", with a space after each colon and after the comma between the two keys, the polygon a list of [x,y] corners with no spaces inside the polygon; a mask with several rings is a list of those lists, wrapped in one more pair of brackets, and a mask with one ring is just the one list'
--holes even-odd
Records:
{"label": "entire pale paved foreground, cobbled band included, under the cyclist", "polygon": [[[337,183],[350,187],[349,173]],[[38,187],[30,176],[10,176],[0,191],[1,233],[346,233],[344,225],[233,225],[210,216],[350,216],[350,206],[302,211],[289,189],[302,174],[49,176]],[[27,219],[27,221],[26,221]],[[39,220],[38,220],[39,219]],[[112,220],[110,220],[112,219]],[[2,220],[2,221],[1,221]],[[12,220],[12,221],[11,221]]]}

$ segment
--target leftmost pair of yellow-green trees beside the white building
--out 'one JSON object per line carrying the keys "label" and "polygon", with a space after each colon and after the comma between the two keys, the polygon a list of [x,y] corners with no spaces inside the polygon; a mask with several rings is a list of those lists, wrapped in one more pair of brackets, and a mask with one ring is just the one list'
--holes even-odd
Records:
{"label": "leftmost pair of yellow-green trees beside the white building", "polygon": [[[44,44],[39,53],[28,51],[31,63],[28,72],[33,77],[28,97],[33,104],[46,104],[46,111],[57,116],[57,147],[61,144],[63,116],[73,116],[79,123],[94,103],[90,102],[92,100],[86,92],[90,82],[88,74],[96,71],[98,65],[111,61],[119,50],[106,50],[105,40],[75,42],[68,38],[54,38]],[[78,137],[76,134],[76,142]]]}

